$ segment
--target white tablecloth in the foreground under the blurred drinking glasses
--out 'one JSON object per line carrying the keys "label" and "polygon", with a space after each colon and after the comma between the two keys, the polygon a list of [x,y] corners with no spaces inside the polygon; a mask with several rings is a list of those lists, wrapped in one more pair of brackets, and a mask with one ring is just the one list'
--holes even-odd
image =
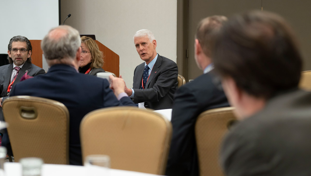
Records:
{"label": "white tablecloth in the foreground under the blurred drinking glasses", "polygon": [[[5,162],[4,170],[6,176],[21,176],[22,167],[20,163]],[[154,174],[146,174],[141,172],[109,169],[109,176],[156,176]],[[44,164],[42,166],[41,176],[89,176],[89,170],[84,166],[74,165],[54,165]],[[102,173],[96,173],[96,175],[103,175]]]}

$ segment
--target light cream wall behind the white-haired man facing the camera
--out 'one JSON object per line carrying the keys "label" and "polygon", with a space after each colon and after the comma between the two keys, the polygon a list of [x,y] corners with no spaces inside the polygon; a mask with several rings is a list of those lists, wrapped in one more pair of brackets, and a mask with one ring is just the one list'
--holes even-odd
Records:
{"label": "light cream wall behind the white-haired man facing the camera", "polygon": [[[156,51],[176,62],[177,0],[61,0],[61,19],[120,56],[120,74],[132,88],[133,72],[143,61],[134,47],[137,30],[151,30]],[[109,59],[109,58],[105,58]]]}

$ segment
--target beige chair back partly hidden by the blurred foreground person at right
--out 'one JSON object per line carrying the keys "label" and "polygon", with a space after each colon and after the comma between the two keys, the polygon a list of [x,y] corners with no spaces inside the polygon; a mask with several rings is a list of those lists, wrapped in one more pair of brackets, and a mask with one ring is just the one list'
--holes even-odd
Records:
{"label": "beige chair back partly hidden by the blurred foreground person at right", "polygon": [[224,134],[236,121],[234,107],[202,112],[195,124],[200,176],[223,176],[219,165],[220,144]]}

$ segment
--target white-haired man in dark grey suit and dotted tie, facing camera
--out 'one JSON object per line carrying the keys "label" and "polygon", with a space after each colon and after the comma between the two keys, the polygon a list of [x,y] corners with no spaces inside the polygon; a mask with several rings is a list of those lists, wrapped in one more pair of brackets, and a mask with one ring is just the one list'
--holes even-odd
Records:
{"label": "white-haired man in dark grey suit and dotted tie, facing camera", "polygon": [[154,110],[172,108],[178,85],[176,63],[156,52],[156,39],[150,30],[141,29],[133,38],[136,50],[145,62],[135,68],[133,88],[125,87],[125,92],[139,106]]}

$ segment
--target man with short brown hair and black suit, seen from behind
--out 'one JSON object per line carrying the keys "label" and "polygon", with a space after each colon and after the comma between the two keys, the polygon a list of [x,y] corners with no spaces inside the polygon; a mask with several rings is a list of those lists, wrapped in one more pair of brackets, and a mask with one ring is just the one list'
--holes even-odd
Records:
{"label": "man with short brown hair and black suit, seen from behind", "polygon": [[210,40],[227,21],[225,16],[210,16],[198,24],[195,61],[204,74],[177,89],[172,111],[173,136],[166,175],[199,175],[194,125],[197,116],[212,108],[229,106],[221,86],[215,85],[211,73]]}

